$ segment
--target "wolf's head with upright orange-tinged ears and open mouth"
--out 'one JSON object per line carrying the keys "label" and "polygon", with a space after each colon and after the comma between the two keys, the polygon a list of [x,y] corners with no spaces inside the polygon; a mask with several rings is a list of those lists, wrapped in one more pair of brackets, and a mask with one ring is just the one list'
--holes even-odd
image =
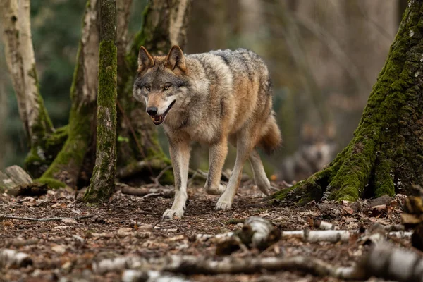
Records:
{"label": "wolf's head with upright orange-tinged ears and open mouth", "polygon": [[133,95],[138,101],[145,102],[155,125],[164,122],[180,96],[186,93],[186,71],[185,56],[180,47],[173,46],[167,56],[154,57],[140,47]]}

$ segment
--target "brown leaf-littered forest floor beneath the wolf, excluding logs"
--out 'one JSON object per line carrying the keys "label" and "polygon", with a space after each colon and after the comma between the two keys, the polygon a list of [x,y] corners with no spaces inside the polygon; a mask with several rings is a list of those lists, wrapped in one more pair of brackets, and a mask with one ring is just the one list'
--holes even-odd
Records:
{"label": "brown leaf-littered forest floor beneath the wolf, excluding logs", "polygon": [[[144,258],[167,255],[195,255],[219,259],[216,245],[195,240],[198,234],[234,231],[241,223],[231,219],[261,216],[281,231],[314,229],[317,219],[329,221],[336,228],[357,230],[374,223],[388,226],[400,223],[403,197],[378,199],[376,202],[310,203],[305,207],[274,207],[263,201],[256,186],[244,185],[238,190],[231,211],[214,210],[216,196],[206,195],[202,188],[189,189],[189,201],[183,219],[161,220],[173,199],[124,195],[120,191],[108,204],[89,206],[71,190],[50,190],[39,197],[0,195],[0,214],[32,218],[75,217],[87,219],[61,221],[25,221],[3,219],[0,222],[0,250],[8,248],[25,252],[32,265],[3,268],[0,281],[120,281],[121,272],[98,274],[93,262],[102,258],[137,255]],[[402,200],[401,200],[402,199]],[[378,202],[379,201],[379,202]],[[376,207],[372,207],[376,206]],[[136,223],[136,224],[135,224]],[[410,239],[390,239],[394,244],[410,247]],[[259,254],[257,250],[238,250],[235,257],[281,257],[303,255],[317,257],[334,266],[357,262],[367,247],[350,243],[304,243],[298,238],[283,238]],[[192,281],[341,281],[317,277],[301,271],[264,271],[257,274],[219,274],[186,276]],[[383,281],[371,278],[369,281]]]}

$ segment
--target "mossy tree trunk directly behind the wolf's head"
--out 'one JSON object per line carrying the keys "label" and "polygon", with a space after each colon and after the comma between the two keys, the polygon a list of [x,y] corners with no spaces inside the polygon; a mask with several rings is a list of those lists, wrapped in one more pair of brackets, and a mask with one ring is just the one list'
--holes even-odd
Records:
{"label": "mossy tree trunk directly behind the wolf's head", "polygon": [[[143,13],[143,26],[135,35],[124,61],[118,55],[118,176],[149,180],[170,164],[159,146],[157,128],[145,114],[145,107],[133,99],[133,80],[140,46],[152,54],[167,54],[173,44],[185,47],[192,0],[152,0]],[[172,179],[167,171],[163,180]]]}

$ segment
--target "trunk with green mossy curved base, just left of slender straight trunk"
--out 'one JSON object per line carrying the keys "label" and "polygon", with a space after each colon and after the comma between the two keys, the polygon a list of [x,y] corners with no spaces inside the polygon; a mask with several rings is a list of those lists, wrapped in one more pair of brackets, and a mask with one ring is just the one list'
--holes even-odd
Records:
{"label": "trunk with green mossy curved base, just left of slender straight trunk", "polygon": [[82,163],[92,153],[99,66],[98,1],[89,0],[82,20],[82,36],[77,65],[71,86],[72,107],[69,116],[68,137],[56,159],[39,181],[52,188],[75,186]]}

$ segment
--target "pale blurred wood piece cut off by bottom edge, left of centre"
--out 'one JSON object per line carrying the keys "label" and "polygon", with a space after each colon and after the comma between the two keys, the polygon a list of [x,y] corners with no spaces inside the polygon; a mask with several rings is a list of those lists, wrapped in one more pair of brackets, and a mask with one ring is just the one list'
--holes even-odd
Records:
{"label": "pale blurred wood piece cut off by bottom edge, left of centre", "polygon": [[125,270],[122,273],[123,282],[189,282],[190,280],[161,271]]}

